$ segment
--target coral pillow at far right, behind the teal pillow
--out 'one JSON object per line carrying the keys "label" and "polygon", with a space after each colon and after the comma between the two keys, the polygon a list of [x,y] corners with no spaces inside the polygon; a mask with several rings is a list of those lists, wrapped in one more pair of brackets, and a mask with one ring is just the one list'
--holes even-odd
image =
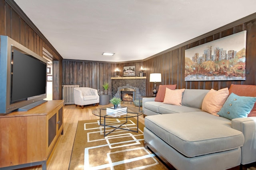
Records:
{"label": "coral pillow at far right, behind the teal pillow", "polygon": [[[231,84],[229,88],[229,94],[234,93],[238,96],[248,96],[256,97],[256,86],[255,85],[241,85],[241,84]],[[256,103],[254,107],[248,114],[248,117],[256,117]]]}

